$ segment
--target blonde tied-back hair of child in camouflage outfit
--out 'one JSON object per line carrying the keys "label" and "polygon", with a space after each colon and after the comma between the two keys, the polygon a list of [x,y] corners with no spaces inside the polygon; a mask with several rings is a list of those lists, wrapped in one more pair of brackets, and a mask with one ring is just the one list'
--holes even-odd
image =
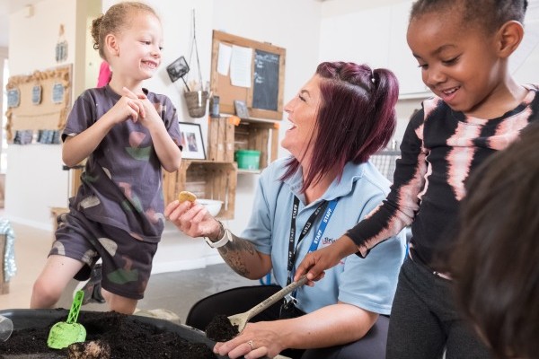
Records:
{"label": "blonde tied-back hair of child in camouflage outfit", "polygon": [[103,52],[105,37],[110,33],[118,33],[124,30],[129,23],[128,15],[137,11],[152,13],[159,19],[155,10],[150,6],[135,1],[126,1],[110,6],[106,13],[101,14],[97,19],[93,20],[93,48],[99,50],[99,55],[103,59],[107,59]]}

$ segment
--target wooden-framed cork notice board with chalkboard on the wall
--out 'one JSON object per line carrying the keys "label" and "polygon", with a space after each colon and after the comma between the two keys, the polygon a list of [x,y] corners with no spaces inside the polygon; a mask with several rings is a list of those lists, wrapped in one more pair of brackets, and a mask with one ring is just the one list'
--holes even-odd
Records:
{"label": "wooden-framed cork notice board with chalkboard on the wall", "polygon": [[[251,86],[234,86],[228,74],[217,71],[219,45],[252,49]],[[222,113],[234,114],[234,100],[244,101],[252,118],[282,119],[286,50],[267,42],[213,31],[210,89],[219,96]]]}

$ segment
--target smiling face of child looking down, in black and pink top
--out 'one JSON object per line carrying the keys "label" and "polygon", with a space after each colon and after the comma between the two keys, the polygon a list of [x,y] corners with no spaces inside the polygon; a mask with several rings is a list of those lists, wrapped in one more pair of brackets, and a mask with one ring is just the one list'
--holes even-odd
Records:
{"label": "smiling face of child looking down, in black and pink top", "polygon": [[479,111],[506,74],[493,35],[462,26],[459,13],[426,13],[411,21],[408,45],[423,83],[451,109]]}

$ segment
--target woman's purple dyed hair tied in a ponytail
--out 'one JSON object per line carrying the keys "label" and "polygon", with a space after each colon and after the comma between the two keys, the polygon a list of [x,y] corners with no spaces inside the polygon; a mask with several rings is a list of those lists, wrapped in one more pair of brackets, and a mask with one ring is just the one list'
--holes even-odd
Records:
{"label": "woman's purple dyed hair tied in a ponytail", "polygon": [[[340,178],[347,162],[367,162],[371,154],[388,144],[396,126],[399,83],[391,71],[323,62],[316,74],[323,78],[322,103],[315,119],[316,135],[308,144],[313,161],[305,173],[302,192],[333,169]],[[298,167],[299,162],[292,158],[282,179],[291,177]]]}

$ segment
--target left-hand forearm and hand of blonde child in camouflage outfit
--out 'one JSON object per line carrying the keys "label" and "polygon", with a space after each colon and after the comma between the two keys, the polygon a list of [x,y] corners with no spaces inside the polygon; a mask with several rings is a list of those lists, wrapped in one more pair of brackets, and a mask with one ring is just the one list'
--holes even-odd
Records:
{"label": "left-hand forearm and hand of blonde child in camouflage outfit", "polygon": [[75,166],[93,153],[104,136],[109,133],[110,128],[128,118],[136,121],[139,116],[144,116],[142,102],[126,96],[121,97],[114,107],[91,127],[76,136],[66,137],[62,147],[62,160],[68,167]]}

